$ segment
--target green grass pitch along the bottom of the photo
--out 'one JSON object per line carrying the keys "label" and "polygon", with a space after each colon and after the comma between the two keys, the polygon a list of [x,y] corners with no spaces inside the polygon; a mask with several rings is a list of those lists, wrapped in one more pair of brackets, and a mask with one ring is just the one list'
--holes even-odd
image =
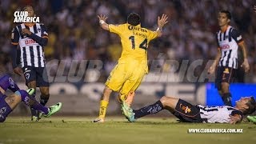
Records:
{"label": "green grass pitch along the bottom of the photo", "polygon": [[[107,117],[105,123],[92,123],[89,117],[53,117],[30,122],[28,117],[9,117],[0,124],[0,144],[221,144],[256,142],[256,125],[176,122],[174,118],[142,118],[127,122],[125,118]],[[188,134],[190,128],[243,129],[242,134]]]}

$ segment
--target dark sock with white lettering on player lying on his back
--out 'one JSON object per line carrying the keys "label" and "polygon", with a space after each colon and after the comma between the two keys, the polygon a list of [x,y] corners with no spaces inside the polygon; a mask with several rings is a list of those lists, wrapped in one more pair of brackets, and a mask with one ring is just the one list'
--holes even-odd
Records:
{"label": "dark sock with white lettering on player lying on his back", "polygon": [[139,110],[134,110],[134,118],[141,118],[149,114],[156,114],[159,111],[163,110],[162,102],[159,100],[153,105],[145,106]]}

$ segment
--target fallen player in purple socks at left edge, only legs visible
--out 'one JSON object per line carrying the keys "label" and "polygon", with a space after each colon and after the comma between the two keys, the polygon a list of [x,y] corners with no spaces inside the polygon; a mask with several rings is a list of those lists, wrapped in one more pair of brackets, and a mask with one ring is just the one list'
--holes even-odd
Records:
{"label": "fallen player in purple socks at left edge, only legs visible", "polygon": [[[6,90],[14,92],[10,96],[6,96]],[[61,109],[62,103],[58,102],[54,106],[45,107],[37,102],[31,95],[34,94],[34,89],[20,90],[9,75],[4,75],[0,78],[0,122],[4,122],[6,117],[12,110],[18,106],[19,102],[24,102],[26,106],[32,107],[34,110],[39,110],[43,116],[49,118],[52,114]]]}

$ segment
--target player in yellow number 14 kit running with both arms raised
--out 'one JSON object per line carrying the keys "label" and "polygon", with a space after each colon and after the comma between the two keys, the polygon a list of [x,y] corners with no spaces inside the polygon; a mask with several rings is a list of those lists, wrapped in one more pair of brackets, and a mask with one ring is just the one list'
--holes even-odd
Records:
{"label": "player in yellow number 14 kit running with both arms raised", "polygon": [[102,29],[118,34],[121,38],[122,55],[106,80],[99,116],[94,122],[104,122],[106,107],[113,90],[119,92],[120,102],[126,101],[128,104],[132,102],[134,91],[142,82],[144,75],[148,73],[147,48],[149,42],[162,36],[162,27],[168,22],[167,15],[162,14],[162,17],[158,17],[158,29],[151,31],[141,27],[140,16],[136,13],[129,14],[127,22],[121,25],[107,24],[106,18],[105,15],[98,15]]}

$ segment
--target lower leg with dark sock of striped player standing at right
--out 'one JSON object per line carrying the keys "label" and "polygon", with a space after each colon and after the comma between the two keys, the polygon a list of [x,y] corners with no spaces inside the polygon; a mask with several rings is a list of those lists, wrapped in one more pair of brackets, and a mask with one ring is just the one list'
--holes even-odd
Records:
{"label": "lower leg with dark sock of striped player standing at right", "polygon": [[232,106],[230,84],[228,82],[222,82],[222,101],[226,106]]}

